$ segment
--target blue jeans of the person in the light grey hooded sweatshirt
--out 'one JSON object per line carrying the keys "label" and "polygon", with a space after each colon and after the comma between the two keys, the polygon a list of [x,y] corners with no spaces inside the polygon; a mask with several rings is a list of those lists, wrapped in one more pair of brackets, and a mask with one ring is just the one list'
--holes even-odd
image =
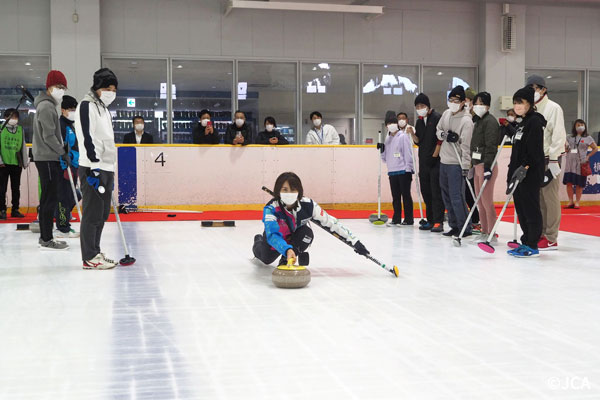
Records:
{"label": "blue jeans of the person in the light grey hooded sweatshirt", "polygon": [[[448,210],[448,225],[461,230],[467,220],[467,204],[465,200],[465,178],[460,165],[440,164],[440,187],[444,206]],[[471,233],[469,224],[466,233]]]}

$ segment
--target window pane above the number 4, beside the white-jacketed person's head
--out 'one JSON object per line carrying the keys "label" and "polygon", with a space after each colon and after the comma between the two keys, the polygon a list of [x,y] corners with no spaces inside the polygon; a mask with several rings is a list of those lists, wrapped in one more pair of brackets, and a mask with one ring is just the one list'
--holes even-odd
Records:
{"label": "window pane above the number 4, beside the white-jacketed person's head", "polygon": [[162,89],[167,87],[167,61],[105,58],[103,64],[119,80],[117,98],[109,106],[115,142],[123,143],[123,136],[133,132],[132,118],[139,115],[154,143],[166,143],[167,95]]}

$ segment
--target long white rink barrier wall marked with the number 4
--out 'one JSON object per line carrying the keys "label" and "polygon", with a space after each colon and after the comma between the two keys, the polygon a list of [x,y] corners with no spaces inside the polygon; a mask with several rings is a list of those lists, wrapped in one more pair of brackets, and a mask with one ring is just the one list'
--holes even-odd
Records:
{"label": "long white rink barrier wall marked with the number 4", "polygon": [[[201,211],[256,210],[269,200],[260,188],[272,187],[280,173],[294,171],[302,179],[306,195],[326,208],[374,209],[377,205],[380,157],[374,145],[117,146],[115,190],[120,204]],[[509,158],[510,146],[505,146],[499,158],[500,176],[494,187],[496,203],[506,199]],[[582,205],[600,204],[600,153],[592,161],[593,175],[588,178]],[[559,179],[562,182],[562,175]],[[381,183],[382,207],[391,209],[385,165]],[[33,164],[23,174],[21,190],[22,208],[33,211],[39,204],[37,170]],[[412,195],[418,212],[414,175]],[[560,196],[566,201],[562,184]]]}

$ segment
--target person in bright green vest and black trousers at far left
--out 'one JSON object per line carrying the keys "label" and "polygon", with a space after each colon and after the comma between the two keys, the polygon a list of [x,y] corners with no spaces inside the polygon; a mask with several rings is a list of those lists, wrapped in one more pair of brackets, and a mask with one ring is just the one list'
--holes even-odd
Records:
{"label": "person in bright green vest and black trousers at far left", "polygon": [[23,136],[23,127],[19,125],[19,112],[9,108],[4,112],[7,124],[0,132],[0,219],[6,219],[6,191],[10,179],[12,190],[11,218],[24,218],[19,212],[21,197],[21,172],[27,167],[27,149]]}

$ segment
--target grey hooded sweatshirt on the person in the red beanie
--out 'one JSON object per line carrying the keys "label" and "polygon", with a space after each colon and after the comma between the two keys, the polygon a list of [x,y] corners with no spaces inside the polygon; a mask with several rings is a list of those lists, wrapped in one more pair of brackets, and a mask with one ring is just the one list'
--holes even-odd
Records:
{"label": "grey hooded sweatshirt on the person in the red beanie", "polygon": [[32,152],[35,161],[57,161],[65,154],[56,100],[46,92],[35,98]]}

